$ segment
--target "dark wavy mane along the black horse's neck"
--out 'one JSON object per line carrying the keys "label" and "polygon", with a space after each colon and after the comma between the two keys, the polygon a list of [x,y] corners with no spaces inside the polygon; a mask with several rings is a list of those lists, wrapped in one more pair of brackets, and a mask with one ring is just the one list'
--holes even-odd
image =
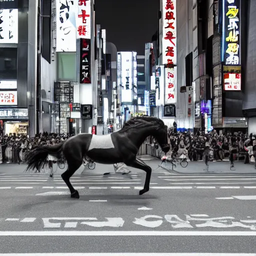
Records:
{"label": "dark wavy mane along the black horse's neck", "polygon": [[146,116],[146,115],[142,115],[139,117],[132,117],[131,119],[129,119],[128,121],[126,121],[122,128],[119,130],[119,132],[123,132],[123,131],[127,131],[128,129],[130,129],[131,127],[135,128],[135,127],[141,127],[142,125],[159,125],[159,126],[164,126],[164,122],[154,116]]}

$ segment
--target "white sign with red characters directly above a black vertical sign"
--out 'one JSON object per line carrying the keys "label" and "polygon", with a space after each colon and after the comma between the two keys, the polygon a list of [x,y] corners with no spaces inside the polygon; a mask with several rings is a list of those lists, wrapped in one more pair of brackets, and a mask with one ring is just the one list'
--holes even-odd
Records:
{"label": "white sign with red characters directly above a black vertical sign", "polygon": [[90,0],[78,0],[78,12],[76,14],[76,37],[90,39]]}

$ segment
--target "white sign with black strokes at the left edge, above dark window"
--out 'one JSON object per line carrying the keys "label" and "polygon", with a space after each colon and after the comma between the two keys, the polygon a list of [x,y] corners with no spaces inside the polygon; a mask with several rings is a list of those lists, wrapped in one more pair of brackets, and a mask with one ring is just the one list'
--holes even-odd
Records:
{"label": "white sign with black strokes at the left edge, above dark window", "polygon": [[18,9],[0,9],[0,43],[18,43]]}

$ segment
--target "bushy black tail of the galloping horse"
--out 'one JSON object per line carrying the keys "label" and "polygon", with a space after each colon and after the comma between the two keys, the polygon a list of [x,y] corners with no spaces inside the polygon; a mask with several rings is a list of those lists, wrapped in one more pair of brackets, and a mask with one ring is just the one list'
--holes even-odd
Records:
{"label": "bushy black tail of the galloping horse", "polygon": [[60,158],[62,143],[55,146],[38,146],[32,149],[25,156],[25,162],[28,164],[25,171],[36,168],[38,171],[45,164],[48,154]]}

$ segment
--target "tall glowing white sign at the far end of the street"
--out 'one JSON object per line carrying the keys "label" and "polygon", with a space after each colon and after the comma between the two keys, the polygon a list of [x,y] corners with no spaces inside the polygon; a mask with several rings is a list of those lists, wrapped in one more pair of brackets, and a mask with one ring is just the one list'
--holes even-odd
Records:
{"label": "tall glowing white sign at the far end of the street", "polygon": [[121,51],[121,101],[132,102],[132,52]]}

